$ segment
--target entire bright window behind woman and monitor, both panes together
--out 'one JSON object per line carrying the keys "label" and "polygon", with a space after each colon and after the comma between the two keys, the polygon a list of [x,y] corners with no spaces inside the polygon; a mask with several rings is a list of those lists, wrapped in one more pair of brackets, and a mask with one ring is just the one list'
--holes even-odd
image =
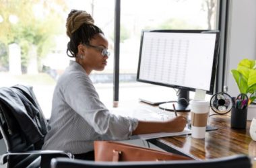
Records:
{"label": "entire bright window behind woman and monitor, both panes together", "polygon": [[[169,88],[135,82],[142,29],[215,29],[217,3],[218,0],[121,1],[119,99],[172,93]],[[49,118],[56,81],[70,60],[65,53],[65,20],[71,9],[84,9],[108,38],[108,66],[90,77],[100,99],[106,106],[112,105],[115,0],[11,0],[2,1],[0,9],[0,87],[32,85]]]}

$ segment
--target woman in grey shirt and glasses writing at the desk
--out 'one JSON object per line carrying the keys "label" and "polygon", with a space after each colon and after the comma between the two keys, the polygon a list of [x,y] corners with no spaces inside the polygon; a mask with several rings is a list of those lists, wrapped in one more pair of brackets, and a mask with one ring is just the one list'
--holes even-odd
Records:
{"label": "woman in grey shirt and glasses writing at the desk", "polygon": [[70,38],[67,54],[75,61],[70,62],[55,87],[49,132],[42,149],[70,151],[77,159],[93,159],[94,140],[184,129],[186,120],[182,116],[166,122],[142,122],[110,114],[88,77],[93,70],[102,71],[106,66],[108,41],[86,11],[72,10],[66,28]]}

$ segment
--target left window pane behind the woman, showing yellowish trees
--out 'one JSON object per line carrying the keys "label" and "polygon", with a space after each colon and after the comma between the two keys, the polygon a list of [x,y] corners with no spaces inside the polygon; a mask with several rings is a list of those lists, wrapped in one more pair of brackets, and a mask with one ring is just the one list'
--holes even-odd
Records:
{"label": "left window pane behind the woman, showing yellowish trees", "polygon": [[0,8],[0,87],[33,86],[42,111],[50,118],[56,81],[71,59],[66,54],[66,18],[71,9],[82,9],[91,13],[109,40],[108,66],[90,76],[102,100],[111,100],[114,0],[12,0],[1,1]]}

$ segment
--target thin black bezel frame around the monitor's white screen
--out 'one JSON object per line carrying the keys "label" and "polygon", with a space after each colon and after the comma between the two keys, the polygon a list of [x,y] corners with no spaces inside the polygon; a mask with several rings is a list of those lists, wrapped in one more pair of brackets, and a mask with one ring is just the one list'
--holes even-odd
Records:
{"label": "thin black bezel frame around the monitor's white screen", "polygon": [[219,46],[220,46],[220,31],[219,30],[141,30],[141,40],[140,40],[140,47],[139,47],[139,62],[138,62],[136,81],[143,82],[143,83],[150,83],[150,84],[153,84],[153,85],[172,87],[172,88],[175,88],[175,89],[195,91],[195,89],[199,89],[199,88],[183,87],[183,86],[179,86],[179,85],[171,85],[171,84],[158,83],[158,82],[154,82],[154,81],[147,81],[147,80],[139,79],[139,71],[140,71],[140,64],[141,64],[141,52],[142,52],[142,46],[143,46],[143,35],[144,35],[145,32],[216,34],[215,48],[214,48],[214,59],[213,59],[213,65],[212,65],[212,77],[211,77],[211,82],[210,82],[210,90],[206,91],[207,94],[210,94],[210,95],[212,95],[214,93],[214,82],[215,82],[215,78],[216,78],[216,70],[217,70],[217,67],[218,67],[217,62],[218,62]]}

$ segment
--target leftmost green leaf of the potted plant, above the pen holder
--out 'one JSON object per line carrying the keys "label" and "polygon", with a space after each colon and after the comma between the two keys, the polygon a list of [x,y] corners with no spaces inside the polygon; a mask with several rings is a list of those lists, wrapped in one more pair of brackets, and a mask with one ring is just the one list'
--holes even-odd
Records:
{"label": "leftmost green leaf of the potted plant, above the pen holder", "polygon": [[247,93],[247,80],[241,73],[239,73],[236,69],[232,69],[231,73],[236,81],[236,84],[238,86],[238,89],[241,93]]}

